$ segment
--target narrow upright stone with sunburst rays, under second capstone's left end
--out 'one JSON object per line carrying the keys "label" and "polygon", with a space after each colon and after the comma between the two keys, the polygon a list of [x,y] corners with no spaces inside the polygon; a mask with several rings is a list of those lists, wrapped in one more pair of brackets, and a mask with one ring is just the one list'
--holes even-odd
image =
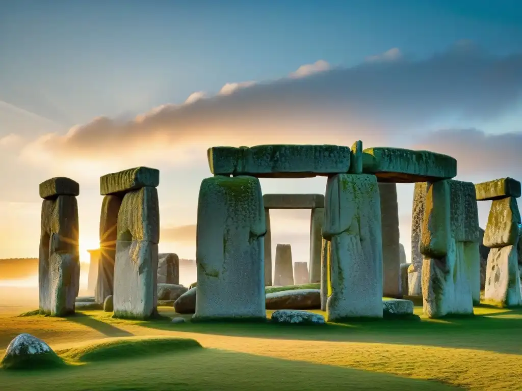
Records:
{"label": "narrow upright stone with sunburst rays, under second capstone's left end", "polygon": [[103,304],[105,298],[114,290],[114,260],[116,258],[116,226],[123,196],[108,195],[103,197],[100,215],[100,259],[98,262],[98,280],[94,297]]}

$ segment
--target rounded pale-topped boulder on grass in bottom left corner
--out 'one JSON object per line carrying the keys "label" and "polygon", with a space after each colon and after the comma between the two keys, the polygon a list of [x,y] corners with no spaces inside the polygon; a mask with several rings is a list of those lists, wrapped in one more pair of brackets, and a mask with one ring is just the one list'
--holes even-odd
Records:
{"label": "rounded pale-topped boulder on grass in bottom left corner", "polygon": [[65,363],[44,341],[23,333],[7,346],[0,364],[4,369],[41,369]]}

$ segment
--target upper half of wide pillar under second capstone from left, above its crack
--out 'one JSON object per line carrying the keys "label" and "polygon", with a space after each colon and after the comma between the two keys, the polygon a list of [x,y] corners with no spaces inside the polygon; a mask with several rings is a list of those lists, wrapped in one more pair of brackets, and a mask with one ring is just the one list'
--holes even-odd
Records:
{"label": "upper half of wide pillar under second capstone from left, above its crack", "polygon": [[158,190],[142,187],[125,194],[118,213],[117,240],[144,240],[158,244],[160,212]]}

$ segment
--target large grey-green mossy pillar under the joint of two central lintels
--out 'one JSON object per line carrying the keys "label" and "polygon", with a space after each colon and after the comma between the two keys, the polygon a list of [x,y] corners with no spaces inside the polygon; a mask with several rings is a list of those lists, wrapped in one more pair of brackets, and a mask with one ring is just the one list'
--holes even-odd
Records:
{"label": "large grey-green mossy pillar under the joint of two central lintels", "polygon": [[323,237],[331,241],[328,321],[383,316],[381,205],[374,175],[328,178]]}

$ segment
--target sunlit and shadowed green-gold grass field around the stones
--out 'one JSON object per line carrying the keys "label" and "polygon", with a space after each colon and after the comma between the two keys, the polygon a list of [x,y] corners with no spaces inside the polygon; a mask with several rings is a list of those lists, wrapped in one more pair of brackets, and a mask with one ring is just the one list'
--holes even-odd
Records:
{"label": "sunlit and shadowed green-gold grass field around the stones", "polygon": [[[70,365],[0,370],[6,391],[522,389],[522,310],[478,307],[471,318],[326,326],[123,321],[102,311],[67,319],[17,316],[21,312],[0,314],[0,356],[26,332]],[[175,316],[170,308],[160,312]],[[107,348],[122,340],[123,350]]]}

